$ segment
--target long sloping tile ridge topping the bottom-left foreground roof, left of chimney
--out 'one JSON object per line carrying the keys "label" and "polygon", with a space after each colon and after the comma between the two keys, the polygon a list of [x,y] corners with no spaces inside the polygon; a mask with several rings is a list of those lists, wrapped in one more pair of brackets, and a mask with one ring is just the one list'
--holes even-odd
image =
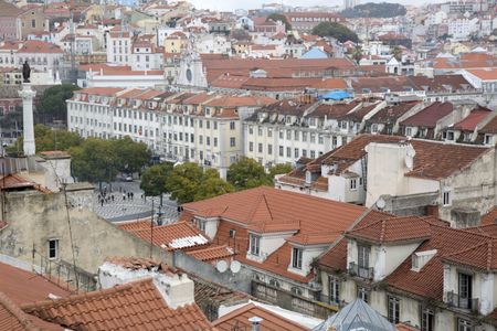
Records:
{"label": "long sloping tile ridge topping the bottom-left foreground roof, left of chimney", "polygon": [[33,303],[24,303],[21,305],[21,309],[23,311],[25,310],[32,310],[32,309],[39,309],[42,307],[47,307],[47,306],[62,306],[68,302],[77,302],[77,301],[85,301],[88,299],[95,299],[98,297],[107,297],[114,293],[118,293],[118,292],[124,292],[127,290],[133,289],[135,286],[140,285],[140,284],[146,284],[146,282],[151,282],[152,281],[152,277],[146,277],[144,279],[138,279],[135,281],[130,281],[130,282],[126,282],[126,284],[121,284],[121,285],[116,285],[112,288],[107,288],[107,289],[103,289],[103,290],[95,290],[92,292],[84,292],[84,293],[80,293],[80,295],[74,295],[74,296],[68,296],[65,298],[61,298],[61,299],[56,299],[56,300],[42,300],[42,301],[38,301],[38,302],[33,302]]}

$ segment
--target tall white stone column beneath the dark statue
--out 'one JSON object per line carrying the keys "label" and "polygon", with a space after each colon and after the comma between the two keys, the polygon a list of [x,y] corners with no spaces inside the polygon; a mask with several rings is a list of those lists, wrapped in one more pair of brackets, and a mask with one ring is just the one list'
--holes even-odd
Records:
{"label": "tall white stone column beneath the dark statue", "polygon": [[34,121],[33,121],[33,98],[36,92],[31,89],[30,83],[23,83],[19,96],[22,98],[22,120],[24,132],[24,156],[34,156],[36,147],[34,145]]}

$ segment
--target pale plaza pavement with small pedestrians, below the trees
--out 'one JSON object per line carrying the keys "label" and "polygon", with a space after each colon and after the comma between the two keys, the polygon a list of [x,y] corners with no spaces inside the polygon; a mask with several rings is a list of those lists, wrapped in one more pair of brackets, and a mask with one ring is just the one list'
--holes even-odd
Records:
{"label": "pale plaza pavement with small pedestrians, below the trees", "polygon": [[[142,197],[142,191],[139,188],[139,182],[113,182],[112,192],[110,185],[102,186],[107,188],[106,196],[114,195],[114,201],[108,199],[108,202],[102,202],[98,200],[101,192],[95,190],[94,194],[94,209],[95,213],[110,222],[119,221],[131,221],[137,218],[150,217],[152,209],[152,197]],[[125,193],[126,192],[126,193]],[[128,199],[127,194],[129,192],[134,193],[133,199]],[[125,195],[126,200],[123,199]],[[102,196],[101,196],[102,199]],[[157,213],[159,212],[160,199],[159,196],[154,197],[154,213],[155,220],[157,218]],[[163,224],[172,223],[178,220],[177,204],[175,201],[169,200],[169,195],[165,194],[162,197],[162,222]]]}

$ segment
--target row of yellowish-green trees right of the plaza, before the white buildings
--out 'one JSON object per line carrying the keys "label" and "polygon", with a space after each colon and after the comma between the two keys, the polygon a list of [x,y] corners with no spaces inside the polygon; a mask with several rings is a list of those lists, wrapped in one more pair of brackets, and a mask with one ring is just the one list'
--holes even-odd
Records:
{"label": "row of yellowish-green trees right of the plaza, before the white buildings", "polygon": [[148,168],[141,175],[140,188],[147,195],[170,193],[179,204],[204,200],[240,190],[273,185],[273,178],[292,170],[289,164],[277,164],[266,173],[253,159],[241,158],[228,171],[228,181],[215,169],[203,170],[197,163],[161,163]]}

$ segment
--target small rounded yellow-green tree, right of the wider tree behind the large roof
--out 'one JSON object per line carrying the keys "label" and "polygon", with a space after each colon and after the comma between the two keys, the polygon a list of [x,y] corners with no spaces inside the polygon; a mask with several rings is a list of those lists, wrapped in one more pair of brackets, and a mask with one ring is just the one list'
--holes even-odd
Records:
{"label": "small rounded yellow-green tree, right of the wider tree behind the large roof", "polygon": [[246,190],[261,185],[271,185],[272,179],[264,171],[264,167],[257,161],[242,157],[228,170],[228,182],[236,190]]}

